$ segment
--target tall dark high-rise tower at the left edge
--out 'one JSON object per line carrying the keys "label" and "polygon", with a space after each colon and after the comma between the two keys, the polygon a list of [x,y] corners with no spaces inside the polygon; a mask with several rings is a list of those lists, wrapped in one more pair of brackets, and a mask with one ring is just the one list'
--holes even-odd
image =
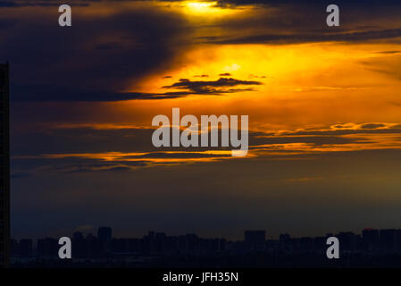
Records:
{"label": "tall dark high-rise tower at the left edge", "polygon": [[0,267],[10,264],[9,67],[0,64]]}

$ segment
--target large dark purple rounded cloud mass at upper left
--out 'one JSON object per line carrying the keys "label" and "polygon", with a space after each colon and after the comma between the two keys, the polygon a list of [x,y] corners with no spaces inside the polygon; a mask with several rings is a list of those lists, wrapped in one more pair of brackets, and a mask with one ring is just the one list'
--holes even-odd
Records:
{"label": "large dark purple rounded cloud mass at upper left", "polygon": [[[38,12],[21,17],[14,29],[0,29],[0,61],[11,63],[12,100],[140,97],[121,90],[149,73],[171,67],[181,49],[191,45],[187,22],[179,14],[156,8],[96,19],[76,13],[68,29],[58,27],[56,16],[54,20],[48,13]],[[2,21],[11,20],[2,15]]]}

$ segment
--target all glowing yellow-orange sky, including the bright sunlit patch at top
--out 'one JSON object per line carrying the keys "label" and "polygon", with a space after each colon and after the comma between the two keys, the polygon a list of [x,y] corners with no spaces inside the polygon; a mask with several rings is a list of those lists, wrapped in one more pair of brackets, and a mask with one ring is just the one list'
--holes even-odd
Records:
{"label": "all glowing yellow-orange sky, including the bright sunlit patch at top", "polygon": [[[216,45],[199,43],[202,37],[232,36],[232,28],[225,21],[248,21],[254,17],[267,17],[277,13],[276,8],[257,9],[249,5],[241,8],[220,8],[213,2],[138,2],[113,5],[93,4],[78,8],[79,17],[109,17],[121,11],[159,9],[163,13],[177,13],[191,26],[188,43],[175,55],[173,61],[145,76],[128,79],[122,92],[163,93],[180,91],[165,88],[180,79],[219,80],[221,77],[254,80],[261,84],[252,91],[238,91],[221,95],[198,95],[172,99],[129,100],[91,104],[98,106],[108,116],[94,113],[83,122],[69,126],[91,126],[103,129],[123,127],[150,128],[156,114],[171,116],[172,107],[180,107],[181,114],[246,114],[249,128],[254,131],[334,130],[336,124],[343,129],[359,130],[357,134],[340,135],[357,137],[363,144],[349,143],[324,146],[305,144],[279,144],[292,152],[334,152],[372,148],[399,148],[396,134],[364,133],[358,126],[364,123],[380,123],[388,130],[401,122],[399,90],[399,64],[401,45],[394,41],[349,43],[322,41],[298,44],[237,44]],[[44,9],[44,13],[47,10]],[[394,22],[382,21],[384,26]],[[230,27],[230,26],[229,26]],[[239,35],[258,34],[259,28],[238,31]],[[116,37],[114,35],[114,37]],[[97,38],[102,42],[106,36]],[[135,39],[134,39],[135,42]],[[135,43],[134,43],[135,45]],[[227,74],[221,76],[221,74]],[[204,77],[201,77],[201,76]],[[238,86],[236,88],[247,88]],[[97,107],[96,107],[97,109]],[[66,122],[52,122],[56,127]],[[74,125],[75,124],[75,125]],[[348,124],[348,125],[347,125]],[[68,125],[68,124],[67,124]],[[349,127],[351,126],[351,127]],[[251,151],[249,156],[263,153]],[[269,151],[271,152],[271,151]],[[105,160],[107,156],[104,157]],[[168,160],[166,159],[166,162]],[[184,160],[185,161],[185,160]],[[191,161],[191,160],[188,160]]]}

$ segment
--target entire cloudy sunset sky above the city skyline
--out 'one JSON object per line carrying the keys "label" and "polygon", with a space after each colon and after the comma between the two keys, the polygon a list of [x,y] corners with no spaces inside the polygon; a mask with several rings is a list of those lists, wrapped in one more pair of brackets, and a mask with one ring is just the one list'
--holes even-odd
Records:
{"label": "entire cloudy sunset sky above the city skyline", "polygon": [[[401,4],[334,3],[2,1],[13,236],[400,228]],[[247,156],[153,147],[172,107],[249,115]]]}

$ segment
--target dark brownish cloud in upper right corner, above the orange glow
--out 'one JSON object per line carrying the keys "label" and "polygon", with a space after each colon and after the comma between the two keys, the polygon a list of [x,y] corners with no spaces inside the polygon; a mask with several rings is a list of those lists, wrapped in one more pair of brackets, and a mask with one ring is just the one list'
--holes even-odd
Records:
{"label": "dark brownish cloud in upper right corner, above the orange glow", "polygon": [[[259,5],[252,17],[232,18],[220,21],[225,30],[221,36],[204,35],[200,43],[236,44],[298,44],[309,42],[364,42],[397,41],[401,37],[399,14],[401,4],[397,1],[246,1],[219,2],[222,7]],[[340,26],[326,25],[326,7],[338,4]],[[393,23],[388,25],[388,20]],[[216,25],[217,27],[217,25]],[[251,31],[251,32],[250,32]]]}

